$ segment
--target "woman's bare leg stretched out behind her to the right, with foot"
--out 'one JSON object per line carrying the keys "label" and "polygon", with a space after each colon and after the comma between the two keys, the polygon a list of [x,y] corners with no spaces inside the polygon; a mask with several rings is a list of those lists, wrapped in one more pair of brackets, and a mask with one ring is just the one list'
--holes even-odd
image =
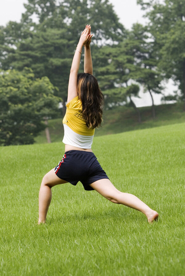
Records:
{"label": "woman's bare leg stretched out behind her to the right, with foot", "polygon": [[147,216],[149,223],[158,218],[158,213],[156,211],[150,209],[150,207],[138,199],[137,196],[128,193],[122,193],[117,190],[109,179],[97,180],[91,183],[90,186],[108,200],[117,204],[126,205],[142,212]]}

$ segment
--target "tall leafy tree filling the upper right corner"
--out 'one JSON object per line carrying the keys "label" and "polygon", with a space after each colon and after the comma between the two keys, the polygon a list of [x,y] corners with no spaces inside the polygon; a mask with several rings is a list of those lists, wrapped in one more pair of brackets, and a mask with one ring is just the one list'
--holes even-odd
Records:
{"label": "tall leafy tree filling the upper right corner", "polygon": [[185,5],[182,0],[138,0],[149,18],[148,31],[154,39],[159,63],[167,79],[179,85],[185,111]]}

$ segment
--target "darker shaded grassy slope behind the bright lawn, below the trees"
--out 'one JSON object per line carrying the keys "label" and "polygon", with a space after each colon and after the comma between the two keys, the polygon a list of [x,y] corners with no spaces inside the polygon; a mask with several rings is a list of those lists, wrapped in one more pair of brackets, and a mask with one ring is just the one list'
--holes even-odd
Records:
{"label": "darker shaded grassy slope behind the bright lawn, below the trees", "polygon": [[[121,133],[130,130],[152,128],[185,122],[185,112],[183,104],[157,105],[156,119],[151,117],[151,107],[141,107],[142,123],[138,123],[137,114],[134,109],[125,106],[119,106],[111,110],[105,110],[103,123],[100,129],[95,130],[95,136]],[[53,119],[49,121],[49,130],[51,142],[60,142],[64,136],[62,119]],[[47,143],[45,131],[35,138],[36,143]]]}

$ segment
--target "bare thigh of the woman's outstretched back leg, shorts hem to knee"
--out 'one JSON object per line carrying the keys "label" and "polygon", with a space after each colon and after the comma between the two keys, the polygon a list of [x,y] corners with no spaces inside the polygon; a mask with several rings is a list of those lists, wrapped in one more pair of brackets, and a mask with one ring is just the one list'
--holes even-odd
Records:
{"label": "bare thigh of the woman's outstretched back leg, shorts hem to knee", "polygon": [[94,190],[107,199],[113,198],[120,194],[120,191],[117,190],[116,187],[114,187],[114,185],[110,182],[110,180],[106,178],[99,179],[91,183],[89,186],[91,186]]}

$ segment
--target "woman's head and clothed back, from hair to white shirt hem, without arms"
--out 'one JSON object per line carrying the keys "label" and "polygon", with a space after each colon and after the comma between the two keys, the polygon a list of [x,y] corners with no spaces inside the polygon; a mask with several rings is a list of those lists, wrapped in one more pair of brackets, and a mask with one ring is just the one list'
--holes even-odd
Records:
{"label": "woman's head and clothed back, from hair to white shirt hem, without arms", "polygon": [[101,125],[103,94],[97,79],[89,73],[77,75],[77,96],[66,105],[64,144],[90,149],[95,128]]}

